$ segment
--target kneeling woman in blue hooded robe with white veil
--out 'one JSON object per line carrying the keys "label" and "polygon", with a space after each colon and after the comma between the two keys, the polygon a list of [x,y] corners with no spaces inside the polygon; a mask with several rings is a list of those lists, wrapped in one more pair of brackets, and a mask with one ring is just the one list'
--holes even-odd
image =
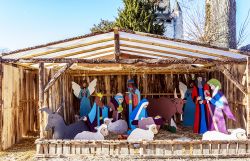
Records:
{"label": "kneeling woman in blue hooded robe with white veil", "polygon": [[130,127],[131,130],[129,130],[128,133],[131,133],[136,128],[136,126],[133,125],[133,123],[132,123],[133,121],[142,120],[143,118],[148,117],[147,106],[148,106],[148,100],[146,98],[144,98],[140,101],[140,103],[132,111],[132,113],[129,117],[129,122],[131,124],[131,127]]}

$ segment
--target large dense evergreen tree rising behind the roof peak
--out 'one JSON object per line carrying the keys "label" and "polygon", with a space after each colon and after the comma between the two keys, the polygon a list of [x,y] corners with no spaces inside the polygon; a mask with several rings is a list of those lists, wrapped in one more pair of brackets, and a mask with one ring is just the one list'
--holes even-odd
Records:
{"label": "large dense evergreen tree rising behind the roof peak", "polygon": [[123,0],[124,9],[118,11],[116,25],[152,34],[163,35],[164,26],[156,22],[155,2],[152,0]]}

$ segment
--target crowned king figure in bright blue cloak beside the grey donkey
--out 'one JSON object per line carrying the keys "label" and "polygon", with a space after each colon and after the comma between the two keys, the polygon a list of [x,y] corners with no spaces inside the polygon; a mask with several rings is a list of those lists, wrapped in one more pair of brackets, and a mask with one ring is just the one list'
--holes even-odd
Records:
{"label": "crowned king figure in bright blue cloak beside the grey donkey", "polygon": [[108,118],[108,107],[104,106],[102,103],[102,94],[97,93],[95,98],[95,103],[89,112],[89,114],[84,117],[84,121],[89,126],[90,131],[95,132],[95,127],[99,127],[101,124],[104,123],[104,119]]}

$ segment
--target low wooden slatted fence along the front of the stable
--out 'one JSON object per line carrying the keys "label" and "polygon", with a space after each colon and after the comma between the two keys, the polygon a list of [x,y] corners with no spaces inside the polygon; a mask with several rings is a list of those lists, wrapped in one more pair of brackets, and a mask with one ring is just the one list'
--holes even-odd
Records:
{"label": "low wooden slatted fence along the front of the stable", "polygon": [[232,158],[250,157],[246,141],[155,140],[36,140],[37,158],[109,156],[118,158]]}

